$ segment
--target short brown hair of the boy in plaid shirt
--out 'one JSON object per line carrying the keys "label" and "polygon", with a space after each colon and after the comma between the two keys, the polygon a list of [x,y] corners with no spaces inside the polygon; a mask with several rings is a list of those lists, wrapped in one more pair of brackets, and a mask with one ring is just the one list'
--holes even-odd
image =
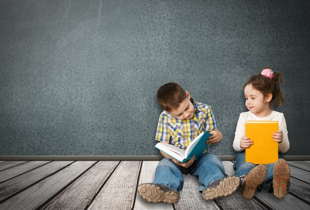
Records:
{"label": "short brown hair of the boy in plaid shirt", "polygon": [[157,101],[168,112],[176,110],[185,98],[186,92],[177,83],[164,84],[157,90]]}

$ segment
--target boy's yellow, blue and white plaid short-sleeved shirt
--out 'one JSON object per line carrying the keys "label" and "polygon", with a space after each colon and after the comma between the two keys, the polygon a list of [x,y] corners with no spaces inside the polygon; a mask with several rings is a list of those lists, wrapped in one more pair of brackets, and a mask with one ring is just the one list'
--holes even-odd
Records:
{"label": "boy's yellow, blue and white plaid short-sleeved shirt", "polygon": [[178,120],[165,110],[160,114],[155,140],[169,142],[181,149],[186,149],[201,132],[216,128],[211,107],[195,102],[193,98],[191,101],[195,110],[191,119]]}

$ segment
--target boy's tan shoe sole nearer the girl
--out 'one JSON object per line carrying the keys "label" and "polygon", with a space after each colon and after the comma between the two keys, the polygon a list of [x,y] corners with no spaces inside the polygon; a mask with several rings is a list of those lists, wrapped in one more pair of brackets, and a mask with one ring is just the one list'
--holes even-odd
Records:
{"label": "boy's tan shoe sole nearer the girl", "polygon": [[203,190],[203,197],[206,200],[228,196],[236,192],[241,184],[239,176],[228,176],[212,182]]}

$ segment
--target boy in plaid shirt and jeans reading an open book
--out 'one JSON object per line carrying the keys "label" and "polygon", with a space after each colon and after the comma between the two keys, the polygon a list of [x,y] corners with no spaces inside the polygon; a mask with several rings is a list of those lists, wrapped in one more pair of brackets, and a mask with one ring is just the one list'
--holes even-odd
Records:
{"label": "boy in plaid shirt and jeans reading an open book", "polygon": [[[186,149],[192,140],[206,130],[212,134],[207,144],[217,143],[222,139],[210,107],[196,102],[179,84],[168,83],[160,86],[157,90],[157,101],[164,111],[159,117],[156,140]],[[160,153],[164,158],[156,168],[153,183],[138,186],[139,194],[148,202],[178,202],[184,183],[182,173],[198,177],[202,184],[199,191],[206,200],[230,195],[241,184],[238,176],[224,177],[222,162],[215,155],[204,153],[197,161],[192,157],[181,164],[165,153]]]}

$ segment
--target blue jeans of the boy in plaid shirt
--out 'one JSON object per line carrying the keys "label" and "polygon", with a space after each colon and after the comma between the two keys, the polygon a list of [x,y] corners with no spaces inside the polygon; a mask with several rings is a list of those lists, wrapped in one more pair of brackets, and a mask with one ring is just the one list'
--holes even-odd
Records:
{"label": "blue jeans of the boy in plaid shirt", "polygon": [[222,165],[222,161],[217,156],[208,153],[202,154],[189,168],[178,166],[171,159],[163,158],[155,170],[155,179],[153,183],[163,184],[180,192],[184,183],[182,173],[190,173],[196,176],[202,184],[202,186],[199,187],[199,191],[201,192],[210,183],[223,178],[225,169]]}

